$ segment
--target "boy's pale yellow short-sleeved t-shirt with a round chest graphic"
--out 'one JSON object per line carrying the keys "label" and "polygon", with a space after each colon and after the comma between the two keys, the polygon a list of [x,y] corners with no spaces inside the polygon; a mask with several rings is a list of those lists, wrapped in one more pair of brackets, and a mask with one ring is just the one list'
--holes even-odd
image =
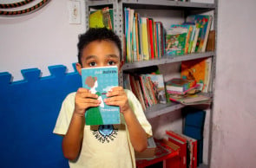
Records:
{"label": "boy's pale yellow short-sleeved t-shirt with a round chest graphic", "polygon": [[[143,113],[140,102],[129,90],[125,90],[130,107],[137,120],[148,133],[152,129]],[[62,102],[54,133],[66,134],[75,108],[75,93]],[[128,129],[121,114],[121,125],[84,126],[82,150],[71,168],[135,168],[135,152],[128,137]]]}

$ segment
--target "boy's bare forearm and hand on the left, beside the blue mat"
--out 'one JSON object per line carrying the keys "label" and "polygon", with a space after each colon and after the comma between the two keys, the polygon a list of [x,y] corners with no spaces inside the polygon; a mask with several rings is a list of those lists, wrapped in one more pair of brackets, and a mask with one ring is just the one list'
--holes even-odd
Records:
{"label": "boy's bare forearm and hand on the left, beside the blue mat", "polygon": [[83,138],[83,128],[85,125],[84,113],[89,107],[98,107],[98,96],[91,94],[86,88],[79,88],[75,94],[75,110],[69,124],[68,132],[62,139],[62,152],[65,158],[74,160],[77,158]]}

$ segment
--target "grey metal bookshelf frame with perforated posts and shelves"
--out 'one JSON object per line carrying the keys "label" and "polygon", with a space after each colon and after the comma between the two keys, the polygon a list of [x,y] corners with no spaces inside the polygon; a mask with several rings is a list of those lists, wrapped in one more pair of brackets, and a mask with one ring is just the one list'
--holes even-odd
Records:
{"label": "grey metal bookshelf frame with perforated posts and shelves", "polygon": [[[214,0],[213,3],[195,3],[191,2],[191,0],[187,0],[187,2],[180,2],[180,1],[170,1],[170,0],[85,0],[85,12],[86,12],[86,29],[89,29],[89,10],[100,10],[104,7],[108,7],[109,9],[113,9],[113,16],[114,16],[114,31],[115,33],[123,39],[124,34],[124,19],[123,19],[123,10],[124,8],[131,8],[134,10],[138,10],[139,13],[141,11],[148,12],[148,11],[164,11],[168,15],[172,12],[180,12],[179,14],[180,19],[185,20],[185,18],[189,15],[194,14],[205,14],[207,12],[211,12],[213,16],[213,23],[212,29],[215,30],[215,50],[210,52],[204,53],[193,53],[181,56],[168,56],[162,55],[160,59],[154,59],[149,61],[135,61],[125,63],[122,67],[122,73],[135,73],[139,72],[141,68],[150,68],[153,66],[170,66],[175,63],[179,63],[181,61],[189,61],[189,60],[196,60],[200,58],[212,58],[212,71],[211,71],[211,93],[208,93],[213,97],[214,91],[214,79],[215,79],[215,64],[216,64],[216,41],[217,41],[217,16],[218,16],[218,0]],[[145,10],[145,11],[144,11]],[[150,12],[149,12],[150,13]],[[147,16],[150,16],[148,14]],[[167,15],[167,16],[168,16]],[[175,15],[174,15],[175,16]],[[154,17],[154,16],[153,16]],[[166,18],[165,18],[166,19]],[[173,18],[169,18],[173,19]],[[122,41],[123,43],[123,41]],[[123,78],[122,74],[120,76],[121,85],[123,85]],[[212,99],[213,100],[213,99]],[[146,117],[150,120],[157,120],[158,116],[163,114],[172,113],[176,110],[182,109],[186,107],[185,105],[181,105],[179,103],[167,103],[167,104],[157,104],[153,107],[148,107],[145,111]],[[207,109],[208,117],[208,130],[207,130],[207,149],[204,155],[207,155],[207,160],[204,161],[200,165],[200,167],[209,167],[211,162],[211,151],[212,151],[212,123],[213,123],[213,109],[211,106]]]}

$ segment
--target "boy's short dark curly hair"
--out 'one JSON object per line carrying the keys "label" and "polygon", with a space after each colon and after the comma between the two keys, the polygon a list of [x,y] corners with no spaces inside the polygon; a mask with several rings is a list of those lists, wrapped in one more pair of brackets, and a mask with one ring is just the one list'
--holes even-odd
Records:
{"label": "boy's short dark curly hair", "polygon": [[78,37],[78,62],[82,65],[81,57],[82,57],[82,49],[86,48],[87,45],[89,45],[90,42],[95,41],[111,41],[115,42],[115,45],[117,46],[120,58],[121,58],[121,40],[120,38],[115,35],[115,33],[107,28],[90,28],[86,33],[80,35]]}

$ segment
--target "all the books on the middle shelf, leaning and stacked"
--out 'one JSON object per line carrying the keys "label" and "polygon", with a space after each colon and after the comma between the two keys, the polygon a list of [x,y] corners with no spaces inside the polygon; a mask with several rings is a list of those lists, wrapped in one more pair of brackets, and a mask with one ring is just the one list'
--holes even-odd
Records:
{"label": "all the books on the middle shelf, leaning and stacked", "polygon": [[[133,91],[143,110],[167,100],[184,105],[211,104],[212,58],[181,62],[181,78],[165,82],[162,74],[124,74],[124,87]],[[167,98],[166,98],[167,95]]]}

